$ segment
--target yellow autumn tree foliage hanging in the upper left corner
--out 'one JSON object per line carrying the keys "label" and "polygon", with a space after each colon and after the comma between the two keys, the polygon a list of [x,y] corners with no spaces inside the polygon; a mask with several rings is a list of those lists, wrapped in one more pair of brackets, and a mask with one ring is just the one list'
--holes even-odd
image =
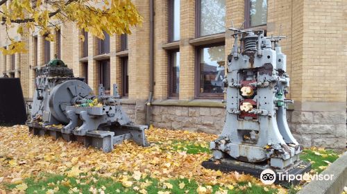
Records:
{"label": "yellow autumn tree foliage hanging in the upper left corner", "polygon": [[103,39],[103,31],[110,35],[130,33],[130,27],[142,21],[130,0],[0,0],[0,6],[1,25],[10,40],[7,49],[0,48],[3,54],[25,52],[25,43],[9,35],[11,28],[20,36],[28,35],[25,28],[38,30],[53,41],[53,30],[74,22],[79,29]]}

